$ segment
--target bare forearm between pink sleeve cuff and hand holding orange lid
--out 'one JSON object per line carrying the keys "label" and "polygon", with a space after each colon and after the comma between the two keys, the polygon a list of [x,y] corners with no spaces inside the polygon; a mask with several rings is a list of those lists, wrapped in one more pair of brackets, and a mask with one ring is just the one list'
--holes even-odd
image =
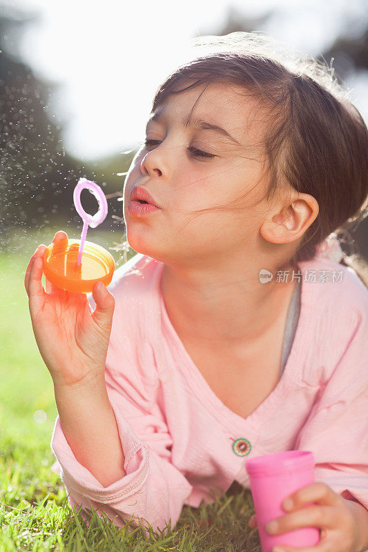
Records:
{"label": "bare forearm between pink sleeve cuff and hand holding orange lid", "polygon": [[104,378],[55,385],[61,427],[76,459],[107,487],[126,475],[117,422]]}

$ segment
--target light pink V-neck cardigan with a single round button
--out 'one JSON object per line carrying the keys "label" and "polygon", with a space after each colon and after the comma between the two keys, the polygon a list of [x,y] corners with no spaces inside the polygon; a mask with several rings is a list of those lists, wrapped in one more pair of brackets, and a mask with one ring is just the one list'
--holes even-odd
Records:
{"label": "light pink V-neck cardigan with a single round button", "polygon": [[[249,488],[249,458],[300,449],[313,451],[316,481],[368,509],[368,290],[354,270],[320,257],[299,263],[300,317],[287,364],[243,418],[211,390],[168,319],[163,266],[139,253],[108,286],[115,313],[105,378],[126,477],[102,486],[77,462],[57,417],[52,468],[70,504],[104,504],[117,526],[133,515],[132,527],[140,517],[155,530],[171,518],[173,528],[184,504],[214,502],[234,480]],[[334,270],[340,281],[331,281]]]}

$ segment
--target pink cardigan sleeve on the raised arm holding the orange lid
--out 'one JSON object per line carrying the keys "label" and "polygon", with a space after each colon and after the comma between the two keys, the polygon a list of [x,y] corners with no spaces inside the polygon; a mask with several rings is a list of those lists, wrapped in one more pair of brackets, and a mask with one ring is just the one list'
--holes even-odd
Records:
{"label": "pink cardigan sleeve on the raised arm holding the orange lid", "polygon": [[[105,381],[124,451],[126,476],[102,486],[77,461],[59,416],[51,442],[57,458],[53,469],[59,471],[70,504],[77,509],[81,506],[87,522],[87,511],[98,508],[98,515],[104,511],[117,526],[129,520],[133,528],[148,522],[156,531],[164,529],[170,519],[173,528],[193,486],[171,462],[173,440],[155,398],[159,382],[153,346],[146,339],[144,324],[136,324],[129,295],[124,305],[121,303],[120,299],[115,303]],[[146,526],[145,530],[148,535]]]}

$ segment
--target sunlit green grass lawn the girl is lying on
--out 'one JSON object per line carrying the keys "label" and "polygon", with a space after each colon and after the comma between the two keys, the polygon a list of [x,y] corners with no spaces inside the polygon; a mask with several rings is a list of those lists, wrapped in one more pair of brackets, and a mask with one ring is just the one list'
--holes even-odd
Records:
{"label": "sunlit green grass lawn the girl is lying on", "polygon": [[[0,254],[0,552],[259,552],[258,531],[248,526],[254,513],[251,493],[240,486],[223,493],[214,504],[184,506],[173,530],[168,526],[151,531],[148,539],[143,528],[128,531],[95,512],[87,526],[70,506],[59,475],[51,471],[55,457],[50,440],[57,408],[23,285],[36,246],[49,244],[54,234],[51,227],[42,234],[14,234],[8,253]],[[121,242],[122,235],[91,232],[87,239],[108,248]],[[111,253],[117,261],[119,253]],[[128,258],[134,254],[130,250]],[[40,423],[36,411],[46,413],[46,420]]]}

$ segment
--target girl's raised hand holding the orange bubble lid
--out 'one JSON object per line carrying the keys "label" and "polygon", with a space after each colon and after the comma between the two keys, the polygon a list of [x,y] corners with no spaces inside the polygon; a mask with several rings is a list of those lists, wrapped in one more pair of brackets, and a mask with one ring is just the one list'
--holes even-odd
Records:
{"label": "girl's raised hand holding the orange bubble lid", "polygon": [[[66,247],[68,235],[57,232],[53,242]],[[72,385],[104,378],[115,298],[98,282],[93,288],[95,311],[85,293],[61,290],[46,279],[43,289],[42,257],[45,245],[32,255],[24,286],[29,298],[32,328],[43,362],[54,384]]]}

